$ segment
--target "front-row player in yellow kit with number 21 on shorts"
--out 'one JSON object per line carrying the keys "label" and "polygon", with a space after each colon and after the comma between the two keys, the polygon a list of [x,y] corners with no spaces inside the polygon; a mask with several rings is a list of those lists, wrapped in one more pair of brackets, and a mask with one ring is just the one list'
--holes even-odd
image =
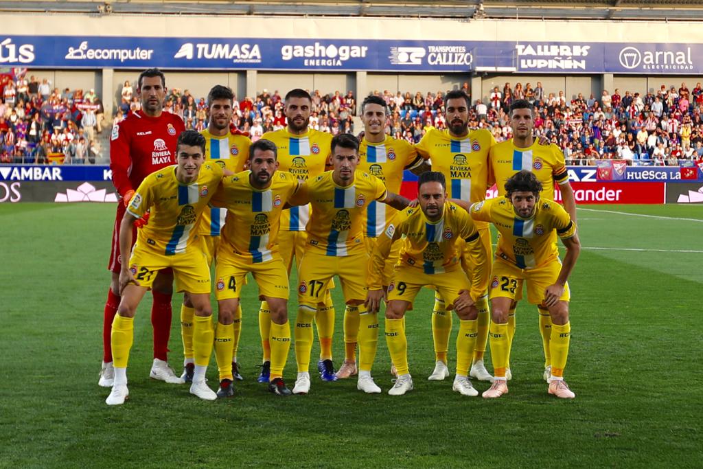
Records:
{"label": "front-row player in yellow kit with number 21 on shorts", "polygon": [[150,210],[148,225],[138,231],[129,263],[120,271],[120,307],[112,321],[112,355],[115,383],[105,402],[123,404],[127,399],[127,361],[134,337],[134,313],[156,274],[170,267],[178,291],[187,291],[195,308],[193,348],[195,373],[191,394],[214,400],[205,384],[205,371],[212,353],[212,309],[210,272],[200,238],[195,234],[198,217],[207,210],[223,175],[219,165],[203,164],[205,137],[183,131],[176,145],[178,165],[150,174],[132,196],[120,224],[120,248],[129,252],[134,222]]}

